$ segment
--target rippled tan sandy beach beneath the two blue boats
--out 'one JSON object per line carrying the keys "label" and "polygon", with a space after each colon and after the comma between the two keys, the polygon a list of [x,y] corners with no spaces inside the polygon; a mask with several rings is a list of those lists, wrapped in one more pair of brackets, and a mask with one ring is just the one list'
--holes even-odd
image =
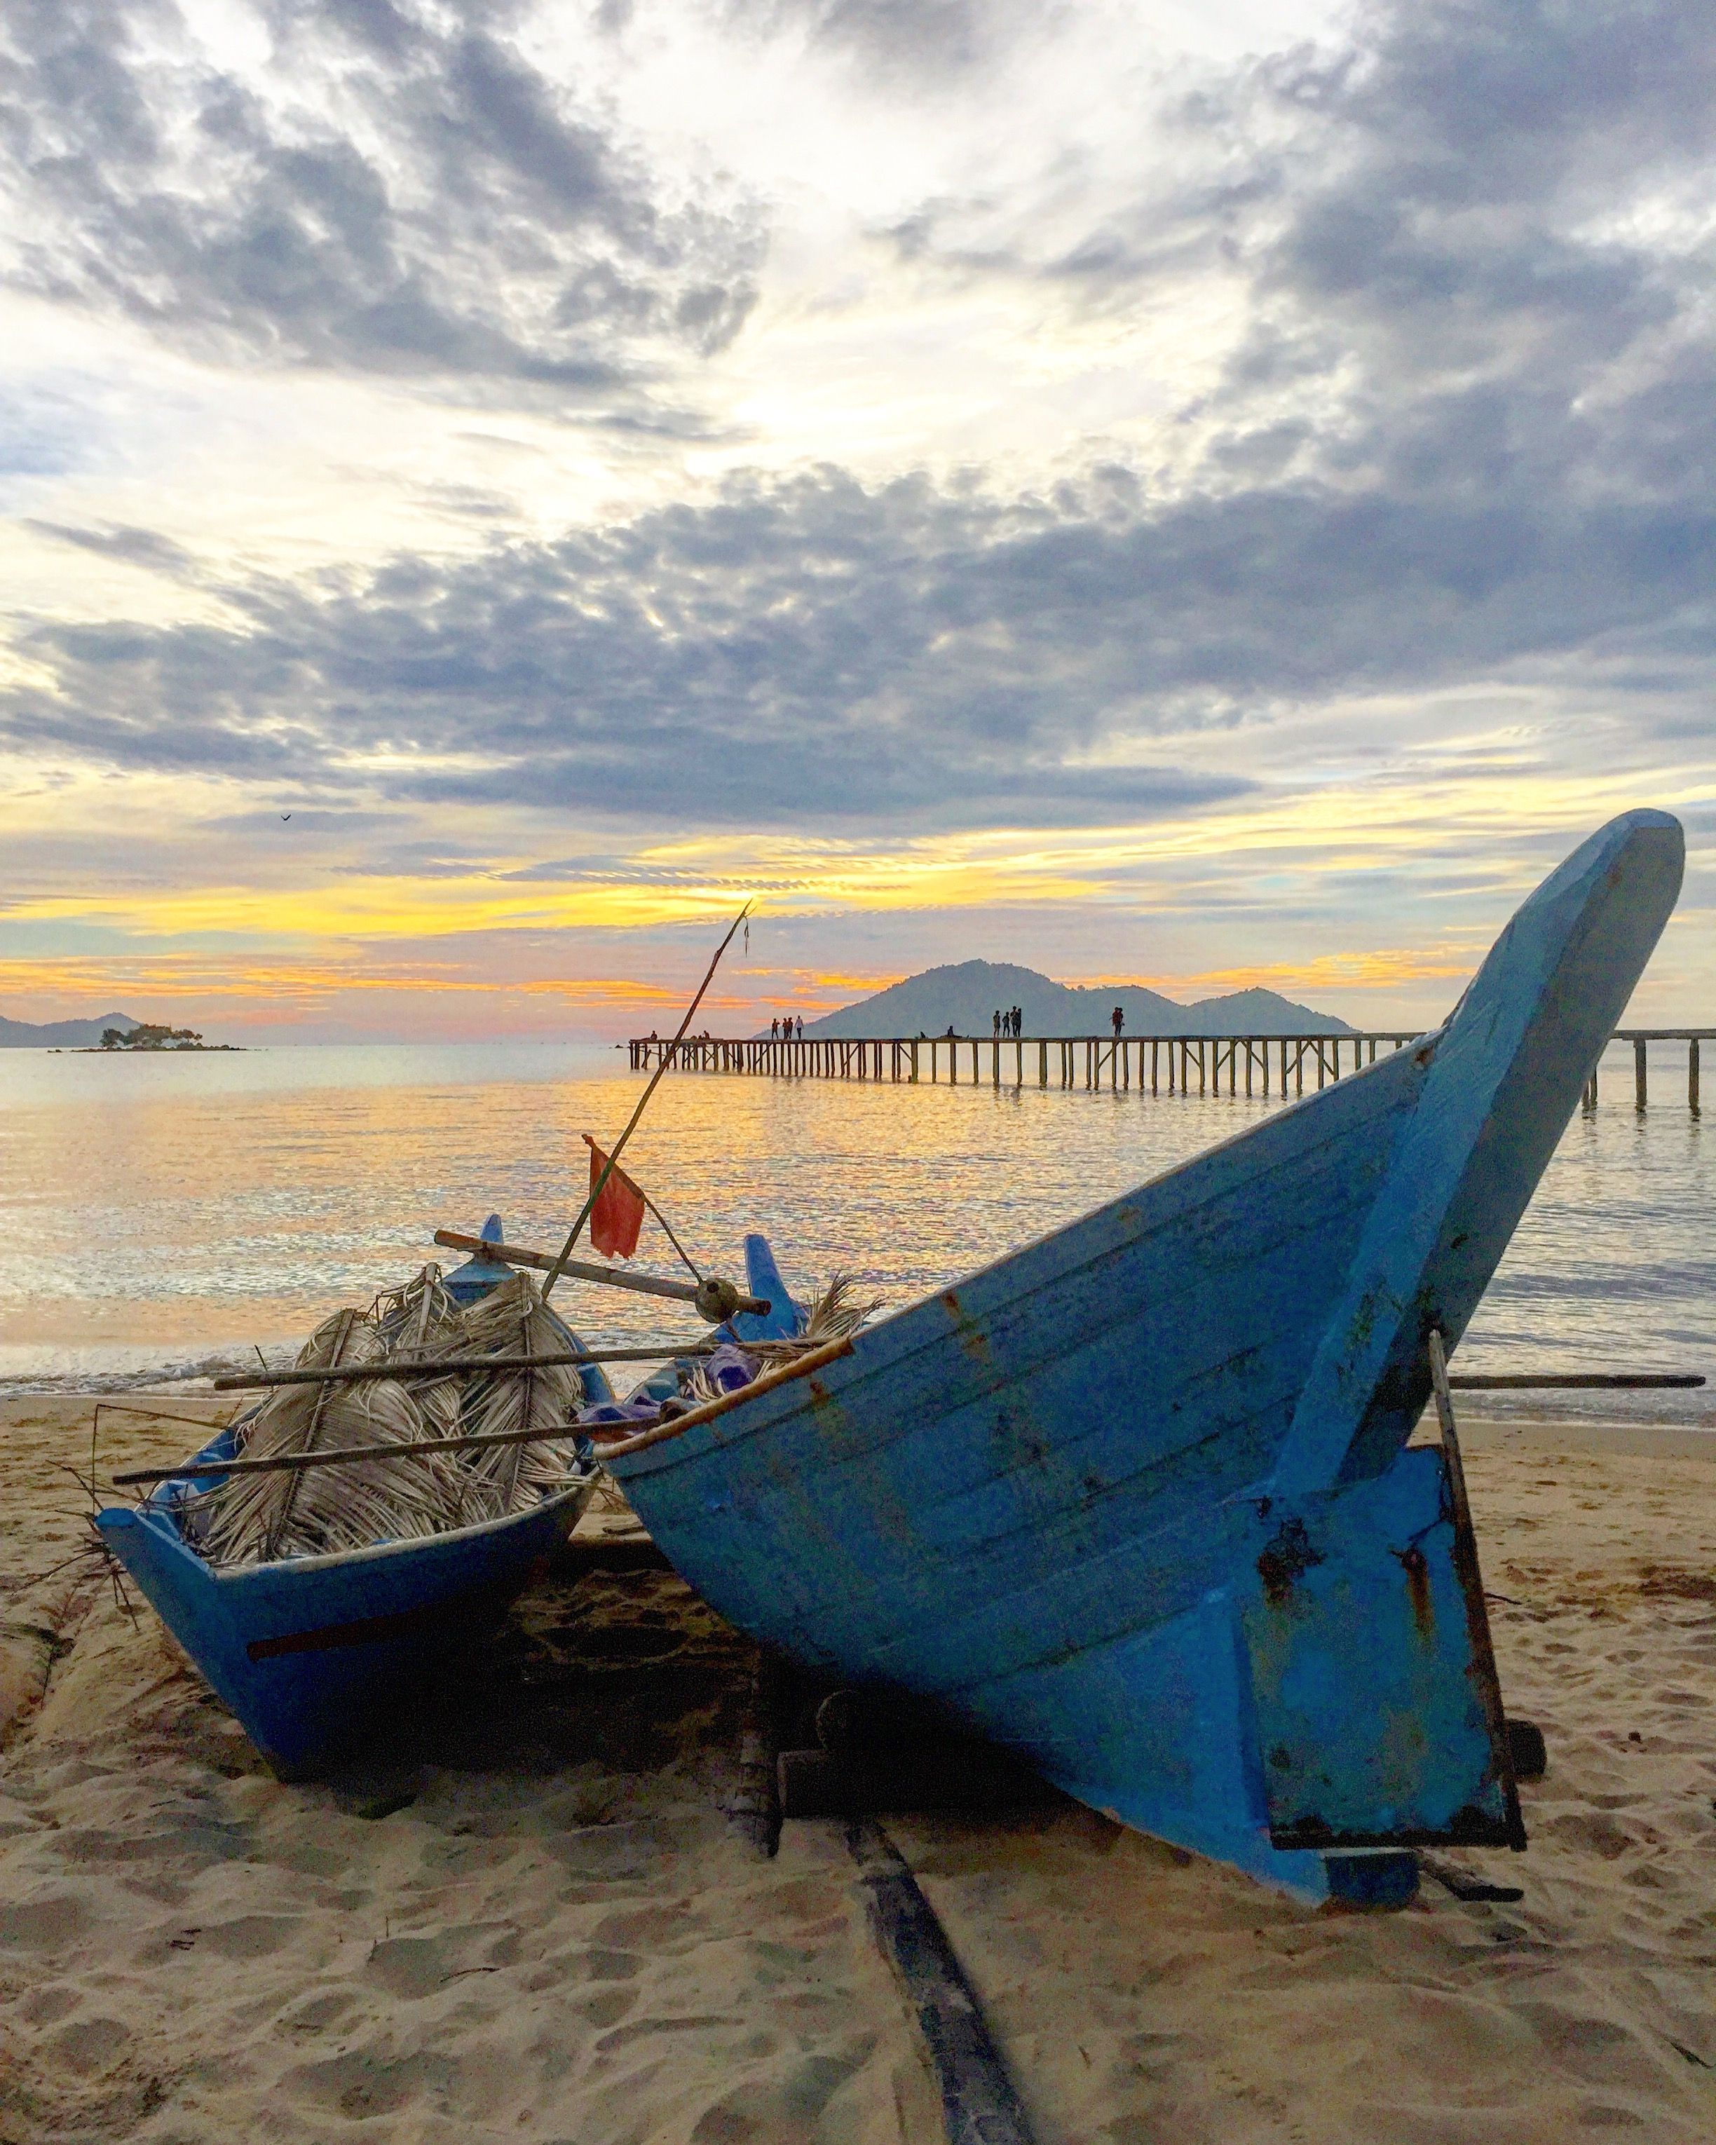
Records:
{"label": "rippled tan sandy beach beneath the two blue boats", "polygon": [[[287,1787],[51,1570],[90,1409],[0,1409],[0,2141],[940,2136],[841,1828],[764,1862],[725,1817],[751,1654],[671,1572],[545,1581],[412,1748]],[[193,1441],[103,1407],[99,1463]],[[1467,1446],[1549,1776],[1527,1855],[1435,1860],[1517,1903],[1313,1913],[1075,1806],[890,1819],[1042,2145],[1716,2132],[1716,1437]]]}

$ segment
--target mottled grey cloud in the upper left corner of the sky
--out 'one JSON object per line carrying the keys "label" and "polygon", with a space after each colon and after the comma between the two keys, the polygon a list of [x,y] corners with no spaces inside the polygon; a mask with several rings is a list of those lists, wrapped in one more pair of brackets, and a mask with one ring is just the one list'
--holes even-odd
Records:
{"label": "mottled grey cloud in the upper left corner of the sky", "polygon": [[744,217],[667,202],[508,39],[504,4],[275,0],[236,73],[169,0],[13,0],[0,189],[15,285],[204,350],[607,393],[753,302]]}

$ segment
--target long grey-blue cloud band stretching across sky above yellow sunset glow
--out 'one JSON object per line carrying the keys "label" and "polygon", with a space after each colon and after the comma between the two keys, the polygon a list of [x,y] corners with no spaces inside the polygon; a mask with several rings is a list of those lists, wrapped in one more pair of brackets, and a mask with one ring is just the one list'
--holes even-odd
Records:
{"label": "long grey-blue cloud band stretching across sky above yellow sunset glow", "polygon": [[1000,502],[822,472],[328,592],[236,588],[230,628],[47,626],[28,654],[60,689],[15,693],[4,727],[448,802],[1100,824],[1231,794],[1182,759],[1244,708],[1574,654],[1707,667],[1714,590],[1703,502],[1300,483],[1152,508],[1100,480]]}

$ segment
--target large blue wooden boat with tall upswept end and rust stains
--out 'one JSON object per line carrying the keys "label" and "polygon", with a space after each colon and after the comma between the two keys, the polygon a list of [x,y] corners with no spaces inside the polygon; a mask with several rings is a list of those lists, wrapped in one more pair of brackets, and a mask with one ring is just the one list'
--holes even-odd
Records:
{"label": "large blue wooden boat with tall upswept end and rust stains", "polygon": [[1682,858],[1615,819],[1435,1034],[609,1459],[633,1508],[787,1656],[1293,1892],[1523,1847],[1456,1456],[1407,1439]]}

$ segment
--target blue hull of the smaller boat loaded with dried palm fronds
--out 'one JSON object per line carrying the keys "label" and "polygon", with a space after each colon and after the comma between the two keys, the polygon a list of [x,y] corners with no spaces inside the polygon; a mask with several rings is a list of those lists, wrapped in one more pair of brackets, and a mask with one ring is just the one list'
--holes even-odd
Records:
{"label": "blue hull of the smaller boat loaded with dried palm fronds", "polygon": [[[498,1216],[483,1236],[502,1242]],[[470,1259],[446,1276],[448,1293],[472,1302],[508,1272]],[[562,1332],[577,1349],[577,1336]],[[579,1377],[588,1401],[611,1399],[596,1364]],[[232,1429],[195,1456],[232,1459]],[[206,1564],[180,1527],[184,1497],[214,1480],[163,1482],[139,1506],[99,1512],[97,1527],[257,1750],[292,1778],[399,1718],[448,1645],[480,1634],[547,1570],[590,1502],[596,1469],[534,1510],[450,1534],[230,1568]]]}

